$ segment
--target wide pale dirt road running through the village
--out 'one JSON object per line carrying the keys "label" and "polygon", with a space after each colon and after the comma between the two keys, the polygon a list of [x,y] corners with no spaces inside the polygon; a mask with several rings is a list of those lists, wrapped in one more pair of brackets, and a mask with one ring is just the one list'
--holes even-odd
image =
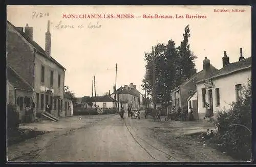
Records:
{"label": "wide pale dirt road running through the village", "polygon": [[[80,128],[65,134],[42,135],[41,138],[31,141],[31,145],[40,144],[40,140],[47,140],[48,145],[16,158],[15,161],[115,161],[115,162],[174,162],[174,161],[198,161],[200,158],[189,157],[191,153],[184,151],[183,147],[172,145],[169,147],[165,141],[157,136],[165,136],[166,133],[154,135],[150,120],[134,120],[131,118],[120,119],[114,115],[94,126]],[[159,123],[159,126],[161,124]],[[48,137],[48,138],[47,138]],[[175,136],[174,136],[175,137]],[[182,138],[178,139],[182,140]],[[178,140],[175,142],[177,143]],[[34,142],[34,143],[33,143]],[[172,141],[169,141],[172,142]],[[197,150],[195,146],[190,146]],[[202,148],[199,148],[202,153]],[[200,152],[199,151],[199,152]],[[202,161],[218,160],[216,152],[210,150],[211,155],[204,157]],[[197,151],[191,151],[193,154]],[[199,155],[200,156],[200,155]],[[224,161],[231,161],[229,157]],[[201,158],[202,159],[202,158]],[[219,161],[223,158],[219,157]]]}

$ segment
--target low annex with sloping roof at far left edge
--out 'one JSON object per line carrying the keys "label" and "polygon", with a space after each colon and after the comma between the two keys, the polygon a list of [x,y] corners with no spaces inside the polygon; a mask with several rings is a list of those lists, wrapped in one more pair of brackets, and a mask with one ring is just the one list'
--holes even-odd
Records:
{"label": "low annex with sloping roof at far left edge", "polygon": [[33,87],[30,86],[15,70],[7,66],[6,101],[16,104],[20,122],[25,121],[25,107],[33,106]]}

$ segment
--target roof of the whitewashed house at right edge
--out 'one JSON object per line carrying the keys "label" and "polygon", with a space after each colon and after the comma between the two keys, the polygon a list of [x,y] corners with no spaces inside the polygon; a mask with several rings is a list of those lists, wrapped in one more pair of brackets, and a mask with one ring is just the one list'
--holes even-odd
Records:
{"label": "roof of the whitewashed house at right edge", "polygon": [[226,76],[231,73],[234,73],[235,71],[240,71],[250,67],[251,67],[251,57],[248,57],[242,61],[237,61],[237,62],[233,62],[225,65],[223,68],[217,71],[217,73],[215,73],[215,75],[212,76],[210,79]]}

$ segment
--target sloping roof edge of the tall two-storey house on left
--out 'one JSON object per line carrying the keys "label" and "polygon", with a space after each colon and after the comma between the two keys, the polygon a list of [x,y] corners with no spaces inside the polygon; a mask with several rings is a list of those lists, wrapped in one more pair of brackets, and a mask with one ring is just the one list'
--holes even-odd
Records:
{"label": "sloping roof edge of the tall two-storey house on left", "polygon": [[42,49],[42,47],[37,44],[34,40],[32,40],[27,34],[25,34],[22,31],[19,31],[14,25],[12,25],[11,22],[9,22],[7,20],[8,25],[10,25],[14,30],[16,30],[20,35],[22,35],[37,51],[39,51],[38,53],[41,54],[42,56],[44,56],[45,58],[49,59],[50,61],[52,61],[53,63],[55,63],[56,65],[58,65],[60,68],[62,69],[66,69],[65,67],[63,67],[59,62],[57,62],[54,58],[52,58],[51,56],[47,56],[46,52],[44,49]]}

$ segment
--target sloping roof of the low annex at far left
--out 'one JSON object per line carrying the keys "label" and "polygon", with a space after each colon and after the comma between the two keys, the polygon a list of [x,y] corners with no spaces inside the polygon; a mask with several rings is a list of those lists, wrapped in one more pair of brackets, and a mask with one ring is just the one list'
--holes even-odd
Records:
{"label": "sloping roof of the low annex at far left", "polygon": [[22,77],[20,77],[11,67],[7,67],[7,80],[14,88],[33,91],[30,86]]}

